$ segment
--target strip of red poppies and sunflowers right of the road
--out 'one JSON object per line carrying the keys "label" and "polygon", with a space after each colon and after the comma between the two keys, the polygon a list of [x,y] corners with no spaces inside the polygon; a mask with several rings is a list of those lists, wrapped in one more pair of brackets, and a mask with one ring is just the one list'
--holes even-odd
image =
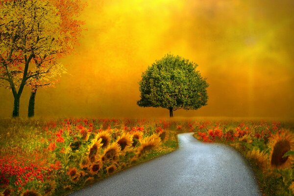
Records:
{"label": "strip of red poppies and sunflowers right of the road", "polygon": [[294,195],[293,123],[202,122],[194,126],[198,140],[228,144],[242,153],[264,195]]}

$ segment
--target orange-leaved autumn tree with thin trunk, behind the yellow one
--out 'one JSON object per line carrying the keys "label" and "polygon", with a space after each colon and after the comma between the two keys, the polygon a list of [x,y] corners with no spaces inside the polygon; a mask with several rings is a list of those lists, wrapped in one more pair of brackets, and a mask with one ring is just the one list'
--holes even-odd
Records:
{"label": "orange-leaved autumn tree with thin trunk, behind the yellow one", "polygon": [[56,61],[73,51],[73,47],[78,44],[78,38],[81,35],[81,26],[84,24],[84,22],[76,19],[85,7],[85,4],[81,3],[80,0],[50,0],[50,2],[58,7],[58,15],[61,19],[59,34],[62,36],[56,41],[61,46],[61,50],[56,54],[39,55],[34,58],[36,66],[31,73],[34,77],[27,83],[31,87],[28,117],[34,116],[35,97],[38,88],[54,86],[61,73],[66,73],[65,67]]}

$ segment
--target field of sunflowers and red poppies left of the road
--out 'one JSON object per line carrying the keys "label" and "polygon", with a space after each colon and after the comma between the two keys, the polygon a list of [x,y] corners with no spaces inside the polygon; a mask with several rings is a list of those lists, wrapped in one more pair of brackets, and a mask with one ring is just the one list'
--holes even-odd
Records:
{"label": "field of sunflowers and red poppies left of the road", "polygon": [[1,120],[0,195],[66,195],[177,147],[170,122]]}

